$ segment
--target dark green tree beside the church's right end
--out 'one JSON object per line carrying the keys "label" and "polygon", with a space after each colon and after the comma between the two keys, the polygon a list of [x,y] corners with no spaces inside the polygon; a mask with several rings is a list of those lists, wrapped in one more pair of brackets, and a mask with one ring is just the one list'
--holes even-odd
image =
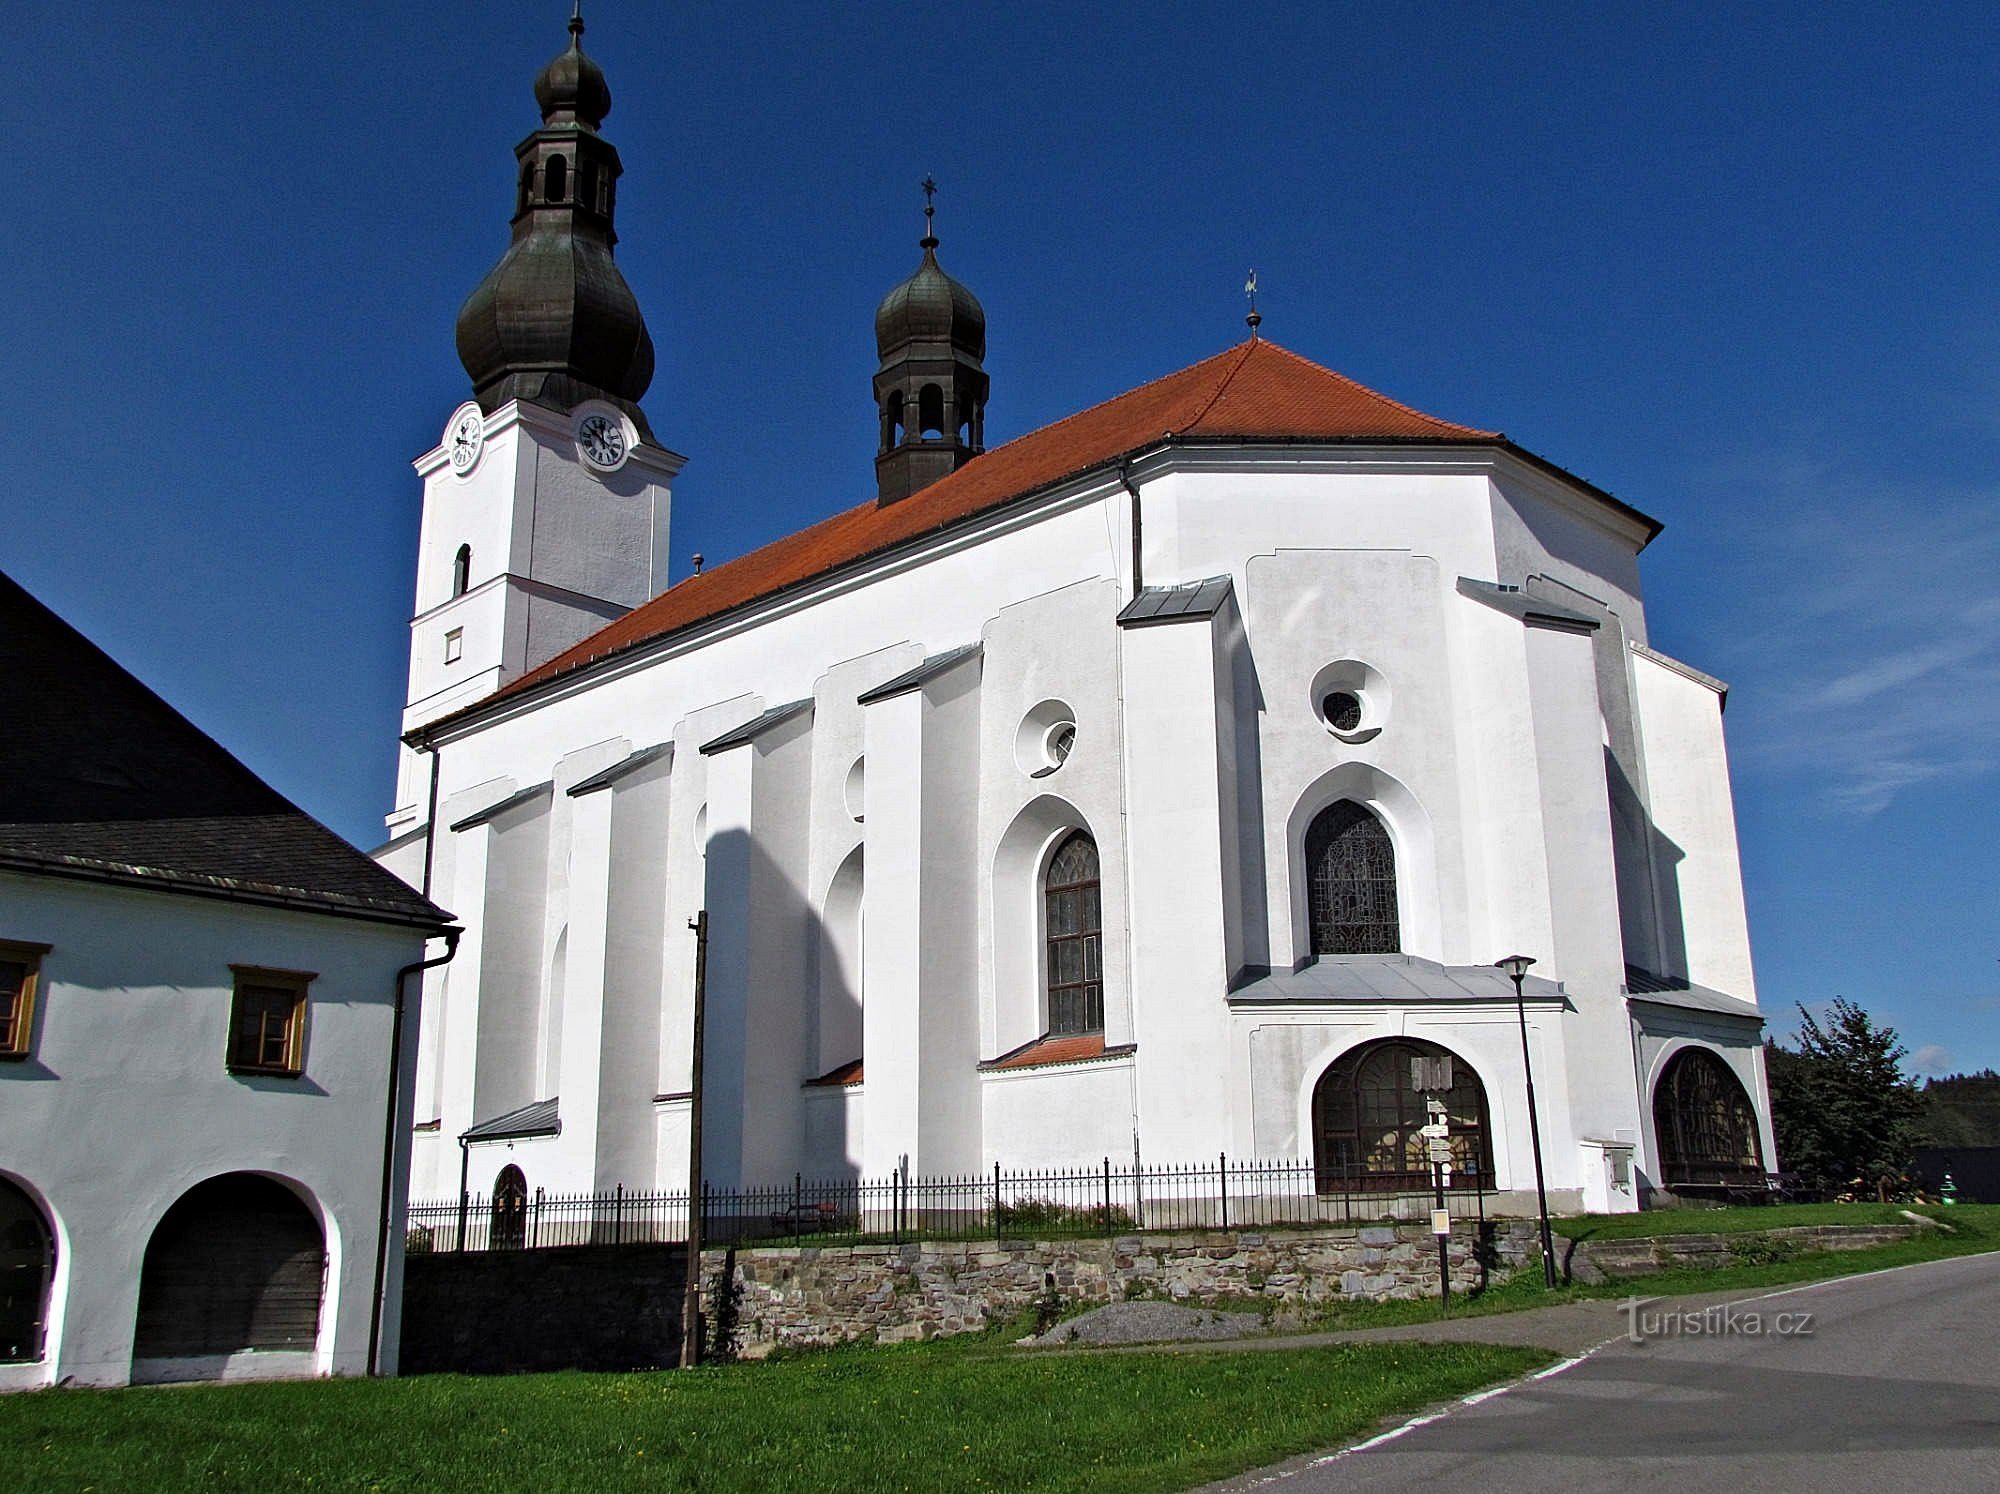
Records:
{"label": "dark green tree beside the church's right end", "polygon": [[1798,1048],[1764,1044],[1770,1118],[1788,1172],[1842,1184],[1908,1170],[1924,1096],[1904,1078],[1908,1050],[1846,996],[1824,1024],[1798,1008]]}

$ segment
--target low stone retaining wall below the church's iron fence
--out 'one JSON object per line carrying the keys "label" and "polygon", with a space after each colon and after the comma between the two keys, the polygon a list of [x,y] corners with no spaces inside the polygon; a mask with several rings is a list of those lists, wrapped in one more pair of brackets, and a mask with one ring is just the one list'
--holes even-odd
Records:
{"label": "low stone retaining wall below the church's iron fence", "polygon": [[[1478,1224],[1452,1234],[1452,1286],[1478,1282]],[[1494,1280],[1536,1250],[1530,1220],[1484,1226]],[[722,1256],[708,1258],[704,1310],[714,1318]],[[1034,1306],[1066,1302],[1176,1302],[1260,1298],[1278,1308],[1336,1298],[1412,1298],[1438,1292],[1438,1242],[1418,1224],[1328,1230],[1214,1230],[1130,1234],[1114,1240],[1004,1244],[794,1246],[736,1252],[740,1350],[778,1344],[896,1342],[978,1332]]]}

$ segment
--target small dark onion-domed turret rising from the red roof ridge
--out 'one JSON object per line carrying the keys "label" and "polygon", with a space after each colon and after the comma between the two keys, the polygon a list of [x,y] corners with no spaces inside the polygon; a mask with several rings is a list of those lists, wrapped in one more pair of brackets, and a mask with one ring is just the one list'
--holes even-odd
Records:
{"label": "small dark onion-domed turret rising from the red roof ridge", "polygon": [[876,500],[892,504],[986,450],[986,312],[938,266],[938,184],[924,178],[924,260],[876,308]]}

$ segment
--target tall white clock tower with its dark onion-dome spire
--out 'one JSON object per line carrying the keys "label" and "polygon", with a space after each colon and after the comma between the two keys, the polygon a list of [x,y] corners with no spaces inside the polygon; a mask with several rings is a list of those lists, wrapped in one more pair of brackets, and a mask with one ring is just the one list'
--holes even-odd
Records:
{"label": "tall white clock tower with its dark onion-dome spire", "polygon": [[[666,590],[682,460],[638,400],[652,338],[612,260],[618,152],[584,22],[534,80],[542,128],[514,146],[512,242],[458,312],[472,398],[422,458],[404,732],[492,694]],[[392,836],[428,778],[402,750]]]}

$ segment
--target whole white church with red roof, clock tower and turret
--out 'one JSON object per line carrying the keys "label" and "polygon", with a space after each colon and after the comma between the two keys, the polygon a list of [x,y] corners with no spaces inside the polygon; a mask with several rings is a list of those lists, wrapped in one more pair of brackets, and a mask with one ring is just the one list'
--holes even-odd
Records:
{"label": "whole white church with red roof, clock tower and turret", "polygon": [[[1258,336],[986,450],[984,310],[876,316],[876,494],[668,586],[602,74],[536,82],[418,460],[382,860],[456,910],[412,1192],[1312,1160],[1532,1200],[1776,1166],[1724,686],[1658,524]],[[1448,1062],[1444,1062],[1448,1060]]]}

